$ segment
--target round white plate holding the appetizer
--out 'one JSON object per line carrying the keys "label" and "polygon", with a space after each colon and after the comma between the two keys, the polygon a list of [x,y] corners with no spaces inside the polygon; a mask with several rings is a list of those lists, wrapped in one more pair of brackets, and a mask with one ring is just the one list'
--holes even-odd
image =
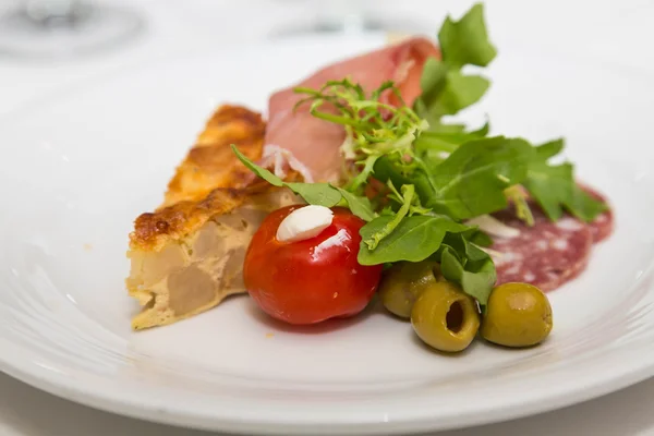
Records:
{"label": "round white plate holding the appetizer", "polygon": [[[0,370],[118,413],[230,432],[397,433],[550,410],[654,374],[650,77],[501,47],[480,108],[495,132],[566,135],[617,229],[550,293],[542,347],[431,352],[376,307],[292,329],[246,296],[134,334],[123,288],[132,220],[222,101],[268,93],[380,38],[277,43],[161,60],[0,120]],[[272,334],[272,335],[269,335]]]}

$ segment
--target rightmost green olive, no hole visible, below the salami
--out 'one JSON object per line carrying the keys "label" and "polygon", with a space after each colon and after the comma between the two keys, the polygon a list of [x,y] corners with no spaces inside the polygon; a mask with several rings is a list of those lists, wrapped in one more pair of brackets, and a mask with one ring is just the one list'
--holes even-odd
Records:
{"label": "rightmost green olive, no hole visible, below the salami", "polygon": [[529,283],[504,283],[491,292],[482,336],[505,347],[531,347],[552,331],[547,296]]}

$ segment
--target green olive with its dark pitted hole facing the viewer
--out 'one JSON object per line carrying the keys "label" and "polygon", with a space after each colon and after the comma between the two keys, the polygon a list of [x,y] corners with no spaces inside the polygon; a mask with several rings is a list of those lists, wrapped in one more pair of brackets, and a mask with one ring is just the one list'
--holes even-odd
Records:
{"label": "green olive with its dark pitted hole facing the viewer", "polygon": [[465,350],[480,328],[476,301],[453,283],[432,283],[415,301],[411,325],[436,350]]}

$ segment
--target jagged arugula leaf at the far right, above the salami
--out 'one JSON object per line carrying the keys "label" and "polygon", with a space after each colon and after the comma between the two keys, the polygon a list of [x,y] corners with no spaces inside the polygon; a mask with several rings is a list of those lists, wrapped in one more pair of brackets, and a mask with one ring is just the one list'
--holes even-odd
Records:
{"label": "jagged arugula leaf at the far right, above the salami", "polygon": [[550,220],[560,219],[564,208],[586,222],[606,210],[603,202],[577,185],[572,164],[549,165],[548,160],[564,149],[564,140],[552,141],[534,149],[524,186]]}

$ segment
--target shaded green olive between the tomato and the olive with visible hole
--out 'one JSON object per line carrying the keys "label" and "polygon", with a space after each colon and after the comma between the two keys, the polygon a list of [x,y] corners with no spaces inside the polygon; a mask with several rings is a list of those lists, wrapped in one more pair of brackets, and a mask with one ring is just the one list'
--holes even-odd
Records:
{"label": "shaded green olive between the tomato and the olive with visible hole", "polygon": [[437,281],[438,264],[429,261],[400,262],[385,271],[379,284],[379,299],[392,314],[409,318],[417,295]]}

